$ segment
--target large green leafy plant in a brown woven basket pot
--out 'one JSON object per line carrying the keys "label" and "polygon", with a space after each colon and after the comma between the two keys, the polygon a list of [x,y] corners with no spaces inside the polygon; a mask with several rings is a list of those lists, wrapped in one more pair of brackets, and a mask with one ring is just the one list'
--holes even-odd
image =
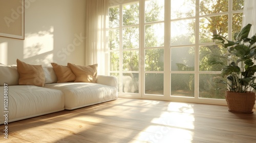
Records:
{"label": "large green leafy plant in a brown woven basket pot", "polygon": [[[253,113],[255,104],[256,65],[256,34],[248,38],[251,24],[245,26],[239,34],[235,34],[235,40],[229,41],[221,35],[213,35],[212,40],[227,49],[228,65],[221,70],[221,76],[226,77],[227,81],[219,81],[227,85],[225,98],[228,111],[237,113]],[[222,64],[222,61],[214,59],[211,64]]]}

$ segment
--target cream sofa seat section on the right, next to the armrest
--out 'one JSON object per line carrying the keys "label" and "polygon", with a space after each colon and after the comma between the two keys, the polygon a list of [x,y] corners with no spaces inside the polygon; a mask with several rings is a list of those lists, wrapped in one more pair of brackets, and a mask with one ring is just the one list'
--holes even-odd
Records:
{"label": "cream sofa seat section on the right, next to the armrest", "polygon": [[72,110],[97,103],[116,100],[117,87],[97,83],[53,83],[46,88],[58,89],[65,94],[65,109]]}

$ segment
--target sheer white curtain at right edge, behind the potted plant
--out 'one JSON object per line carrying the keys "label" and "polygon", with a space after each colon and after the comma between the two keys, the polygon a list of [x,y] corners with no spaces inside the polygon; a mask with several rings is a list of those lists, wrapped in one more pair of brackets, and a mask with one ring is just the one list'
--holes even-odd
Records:
{"label": "sheer white curtain at right edge, behind the potted plant", "polygon": [[[245,0],[244,1],[244,15],[243,15],[243,27],[250,23],[251,30],[248,37],[253,36],[256,33],[256,1]],[[254,108],[256,108],[256,101]]]}

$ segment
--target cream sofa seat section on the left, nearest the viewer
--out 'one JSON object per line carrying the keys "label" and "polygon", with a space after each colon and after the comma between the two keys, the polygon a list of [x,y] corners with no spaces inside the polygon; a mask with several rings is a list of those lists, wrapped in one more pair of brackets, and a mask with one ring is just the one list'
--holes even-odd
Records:
{"label": "cream sofa seat section on the left, nearest the viewer", "polygon": [[[0,93],[4,93],[4,86],[0,86]],[[4,96],[0,100],[0,105],[3,105]],[[0,109],[4,113],[4,106]],[[61,110],[64,110],[64,96],[60,90],[34,85],[8,86],[8,122]],[[0,119],[0,124],[3,124],[4,116]]]}

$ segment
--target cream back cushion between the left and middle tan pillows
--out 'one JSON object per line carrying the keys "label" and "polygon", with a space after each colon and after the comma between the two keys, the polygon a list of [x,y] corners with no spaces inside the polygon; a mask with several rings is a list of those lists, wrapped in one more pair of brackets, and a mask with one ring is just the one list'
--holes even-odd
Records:
{"label": "cream back cushion between the left and middle tan pillows", "polygon": [[42,67],[42,69],[44,69],[46,84],[57,83],[57,76],[55,75],[55,72],[52,66],[45,66],[45,67]]}

